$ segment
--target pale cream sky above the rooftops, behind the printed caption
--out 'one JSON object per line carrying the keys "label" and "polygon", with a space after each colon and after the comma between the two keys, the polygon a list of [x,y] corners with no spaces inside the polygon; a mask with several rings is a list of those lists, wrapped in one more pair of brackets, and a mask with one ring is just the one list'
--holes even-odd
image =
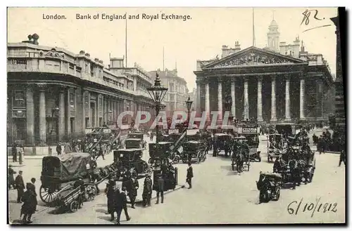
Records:
{"label": "pale cream sky above the rooftops, behind the printed caption", "polygon": [[[279,41],[292,43],[298,36],[306,51],[324,55],[336,72],[335,26],[329,18],[337,16],[337,8],[308,8],[309,22],[303,20],[307,8],[254,8],[256,47],[267,44],[268,26],[273,18],[279,26]],[[125,55],[125,20],[103,20],[101,15],[138,15],[127,20],[127,65],[134,62],[144,70],[175,69],[187,81],[189,91],[195,87],[196,60],[221,56],[221,46],[241,49],[252,46],[252,8],[8,8],[8,42],[27,40],[28,34],[39,35],[39,45],[57,46],[73,53],[84,50],[91,58],[109,64],[111,57]],[[316,20],[314,18],[315,13]],[[99,13],[99,19],[94,15]],[[142,14],[159,14],[158,20],[142,19]],[[190,15],[191,19],[162,20],[161,14]],[[65,15],[65,20],[46,20],[44,15]],[[76,14],[92,19],[77,20]],[[308,25],[306,25],[308,22]],[[331,25],[319,27],[323,25]]]}

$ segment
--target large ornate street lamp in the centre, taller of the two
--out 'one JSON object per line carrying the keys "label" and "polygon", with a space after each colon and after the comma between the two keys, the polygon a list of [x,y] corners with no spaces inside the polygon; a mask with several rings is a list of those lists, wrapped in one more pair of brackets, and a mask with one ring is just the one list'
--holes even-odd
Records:
{"label": "large ornate street lamp in the centre, taller of the two", "polygon": [[[151,95],[151,98],[153,99],[155,103],[155,110],[156,110],[156,117],[158,117],[158,114],[161,110],[161,102],[163,102],[163,99],[165,97],[166,92],[168,91],[168,88],[165,88],[161,86],[161,80],[159,79],[159,74],[156,72],[156,79],[154,81],[154,86],[151,86],[146,89]],[[156,143],[159,143],[159,126],[156,126]]]}

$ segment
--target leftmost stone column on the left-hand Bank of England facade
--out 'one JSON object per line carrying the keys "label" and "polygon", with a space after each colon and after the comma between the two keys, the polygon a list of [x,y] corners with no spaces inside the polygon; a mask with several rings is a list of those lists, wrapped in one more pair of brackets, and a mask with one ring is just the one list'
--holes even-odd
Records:
{"label": "leftmost stone column on the left-hand Bank of England facade", "polygon": [[33,100],[32,86],[27,86],[27,89],[26,89],[26,126],[27,126],[26,143],[28,145],[33,145],[34,144],[34,100]]}

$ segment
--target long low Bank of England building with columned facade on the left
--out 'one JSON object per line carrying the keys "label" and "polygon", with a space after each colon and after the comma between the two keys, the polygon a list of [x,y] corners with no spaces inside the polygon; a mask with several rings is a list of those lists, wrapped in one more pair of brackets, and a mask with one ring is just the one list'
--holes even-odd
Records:
{"label": "long low Bank of England building with columned facade on the left", "polygon": [[[86,128],[116,126],[123,111],[150,111],[150,74],[123,59],[103,61],[29,41],[7,45],[8,145],[47,145],[82,136]],[[125,117],[128,123],[131,119]]]}

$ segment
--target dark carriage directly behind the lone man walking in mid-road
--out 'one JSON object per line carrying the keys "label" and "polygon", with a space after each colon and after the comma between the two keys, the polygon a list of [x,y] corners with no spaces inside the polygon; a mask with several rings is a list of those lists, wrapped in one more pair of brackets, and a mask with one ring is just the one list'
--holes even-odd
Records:
{"label": "dark carriage directly behind the lone man walking in mid-road", "polygon": [[206,144],[199,140],[190,140],[182,145],[182,163],[206,161]]}

